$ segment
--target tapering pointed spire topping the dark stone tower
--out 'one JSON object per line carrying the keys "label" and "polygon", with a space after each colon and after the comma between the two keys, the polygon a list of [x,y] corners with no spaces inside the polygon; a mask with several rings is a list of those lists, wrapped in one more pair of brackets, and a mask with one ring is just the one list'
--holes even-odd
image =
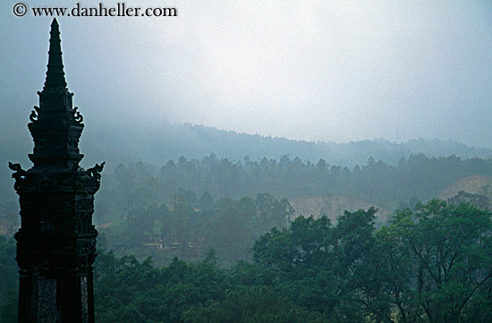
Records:
{"label": "tapering pointed spire topping the dark stone tower", "polygon": [[51,23],[47,63],[47,81],[44,89],[66,88],[60,30],[56,18]]}

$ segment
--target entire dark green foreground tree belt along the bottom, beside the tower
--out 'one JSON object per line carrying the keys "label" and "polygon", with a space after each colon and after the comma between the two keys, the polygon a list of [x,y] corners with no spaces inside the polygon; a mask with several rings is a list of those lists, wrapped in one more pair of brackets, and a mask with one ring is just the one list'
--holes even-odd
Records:
{"label": "entire dark green foreground tree belt along the bottom, beside the tower", "polygon": [[[213,251],[198,263],[99,252],[98,322],[492,321],[492,221],[488,211],[442,200],[395,212],[377,209],[297,217],[263,234],[252,262],[221,268]],[[8,244],[8,243],[7,243]],[[0,307],[13,321],[15,293]],[[11,306],[8,310],[7,306]],[[11,315],[9,319],[9,315]]]}

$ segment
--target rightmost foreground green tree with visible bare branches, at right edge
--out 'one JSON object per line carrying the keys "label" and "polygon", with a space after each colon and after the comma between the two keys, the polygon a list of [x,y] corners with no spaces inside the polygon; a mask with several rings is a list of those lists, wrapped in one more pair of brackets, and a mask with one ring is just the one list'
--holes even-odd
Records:
{"label": "rightmost foreground green tree with visible bare branches, at right edge", "polygon": [[488,322],[492,319],[492,223],[488,211],[442,200],[397,211],[380,240],[388,293],[403,322]]}

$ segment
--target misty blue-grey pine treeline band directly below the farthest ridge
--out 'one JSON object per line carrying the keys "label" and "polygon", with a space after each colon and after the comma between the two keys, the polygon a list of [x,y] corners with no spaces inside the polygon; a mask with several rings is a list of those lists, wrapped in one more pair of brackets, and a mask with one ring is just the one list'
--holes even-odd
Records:
{"label": "misty blue-grey pine treeline band directly below the farthest ridge", "polygon": [[[119,165],[103,174],[97,196],[100,213],[128,212],[172,200],[180,188],[216,198],[345,195],[394,209],[410,199],[430,200],[454,181],[469,175],[492,175],[492,159],[412,155],[394,165],[370,157],[364,166],[330,166],[284,155],[276,159],[231,161],[211,154],[201,160],[180,157],[165,166]],[[106,216],[105,216],[106,217]],[[108,217],[106,217],[108,218]]]}

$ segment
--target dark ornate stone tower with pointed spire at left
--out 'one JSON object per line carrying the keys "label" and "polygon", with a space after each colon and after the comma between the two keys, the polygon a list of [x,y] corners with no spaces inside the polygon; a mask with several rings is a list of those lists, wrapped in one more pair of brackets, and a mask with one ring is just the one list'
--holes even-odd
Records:
{"label": "dark ornate stone tower with pointed spire at left", "polygon": [[15,234],[20,273],[19,322],[94,322],[92,264],[96,231],[94,193],[102,165],[79,166],[82,116],[66,88],[56,20],[51,24],[47,79],[28,124],[34,164],[9,163],[21,204]]}

